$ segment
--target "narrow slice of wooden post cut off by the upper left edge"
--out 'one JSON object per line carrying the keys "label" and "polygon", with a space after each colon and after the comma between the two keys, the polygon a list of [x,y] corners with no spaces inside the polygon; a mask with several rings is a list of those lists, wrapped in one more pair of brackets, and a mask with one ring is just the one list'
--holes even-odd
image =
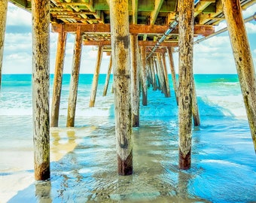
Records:
{"label": "narrow slice of wooden post cut off by the upper left edge", "polygon": [[2,83],[2,65],[5,45],[5,26],[7,17],[8,0],[0,2],[0,89]]}

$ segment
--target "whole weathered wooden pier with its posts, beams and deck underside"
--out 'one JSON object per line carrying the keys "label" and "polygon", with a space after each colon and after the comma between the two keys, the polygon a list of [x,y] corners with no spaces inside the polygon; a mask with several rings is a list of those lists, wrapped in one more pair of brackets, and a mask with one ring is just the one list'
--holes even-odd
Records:
{"label": "whole weathered wooden pier with its posts, beams and deck underside", "polygon": [[[75,35],[72,75],[69,89],[67,127],[75,126],[78,78],[82,46],[98,46],[90,108],[96,91],[102,52],[111,55],[103,95],[108,89],[111,69],[114,75],[114,114],[117,139],[117,172],[133,173],[132,127],[139,127],[139,104],[148,105],[148,86],[169,97],[166,62],[178,105],[179,168],[191,165],[192,117],[200,125],[197,93],[193,75],[194,37],[214,35],[215,26],[227,20],[236,69],[248,114],[251,137],[256,151],[256,78],[242,19],[242,9],[256,0],[2,0],[0,2],[0,86],[5,22],[8,2],[32,13],[32,86],[35,179],[50,177],[50,126],[58,126],[62,70],[66,37]],[[59,33],[53,100],[49,114],[49,35]],[[172,58],[179,51],[178,82]],[[166,56],[168,60],[166,61]],[[142,84],[140,99],[139,83]]]}

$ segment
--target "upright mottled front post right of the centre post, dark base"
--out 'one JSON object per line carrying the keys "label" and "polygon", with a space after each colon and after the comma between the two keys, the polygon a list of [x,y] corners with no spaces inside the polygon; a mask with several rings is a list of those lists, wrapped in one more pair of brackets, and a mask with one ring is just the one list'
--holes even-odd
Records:
{"label": "upright mottled front post right of the centre post, dark base", "polygon": [[189,169],[192,138],[194,0],[179,1],[178,12],[178,47],[180,54],[178,68],[179,168]]}

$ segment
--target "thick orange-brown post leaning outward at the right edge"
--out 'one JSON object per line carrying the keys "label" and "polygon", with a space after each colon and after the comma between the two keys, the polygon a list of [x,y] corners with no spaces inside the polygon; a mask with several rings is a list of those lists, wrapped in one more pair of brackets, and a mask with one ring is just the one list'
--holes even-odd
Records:
{"label": "thick orange-brown post leaning outward at the right edge", "polygon": [[221,2],[256,153],[256,78],[245,23],[242,19],[242,8],[239,1],[222,0]]}

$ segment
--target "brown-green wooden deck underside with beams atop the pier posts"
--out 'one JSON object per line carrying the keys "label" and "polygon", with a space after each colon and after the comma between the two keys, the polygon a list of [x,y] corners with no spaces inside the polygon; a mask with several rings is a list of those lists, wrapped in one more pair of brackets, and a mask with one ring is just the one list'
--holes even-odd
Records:
{"label": "brown-green wooden deck underside with beams atop the pier posts", "polygon": [[[9,0],[14,5],[31,11],[31,0]],[[195,0],[194,36],[207,36],[224,20],[221,0]],[[242,9],[256,0],[240,0]],[[178,14],[178,0],[130,0],[130,34],[138,35],[139,46],[148,51],[162,38]],[[110,11],[107,0],[50,0],[50,22],[53,32],[83,32],[83,44],[103,46],[111,50]],[[178,26],[157,47],[178,47]]]}

